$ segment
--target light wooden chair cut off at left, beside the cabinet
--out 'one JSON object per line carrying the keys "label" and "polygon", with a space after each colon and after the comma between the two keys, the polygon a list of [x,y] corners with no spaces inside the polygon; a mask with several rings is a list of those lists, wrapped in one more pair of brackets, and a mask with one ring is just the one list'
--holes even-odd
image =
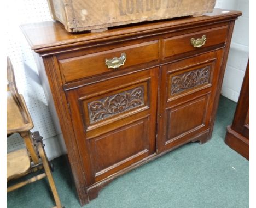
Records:
{"label": "light wooden chair cut off at left, beside the cabinet", "polygon": [[40,137],[38,132],[31,133],[30,131],[34,126],[33,121],[23,96],[18,93],[13,66],[9,57],[7,57],[7,81],[7,137],[13,133],[19,133],[26,145],[25,149],[7,154],[7,182],[44,169],[42,174],[7,187],[7,192],[47,177],[56,207],[61,208],[60,198],[51,174],[51,167],[44,151],[43,137]]}

